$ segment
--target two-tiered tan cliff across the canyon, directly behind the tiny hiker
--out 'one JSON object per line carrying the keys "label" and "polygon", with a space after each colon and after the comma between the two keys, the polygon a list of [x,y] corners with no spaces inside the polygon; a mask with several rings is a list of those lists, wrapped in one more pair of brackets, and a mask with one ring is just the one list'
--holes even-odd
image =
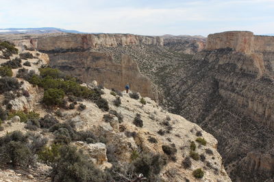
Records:
{"label": "two-tiered tan cliff across the canyon, directly behind the tiny hiker", "polygon": [[163,46],[160,37],[132,34],[69,34],[41,37],[29,42],[38,50],[47,52],[51,60],[50,65],[63,72],[78,76],[85,82],[97,80],[99,85],[109,89],[123,90],[129,83],[132,91],[158,102],[155,85],[149,78],[140,74],[137,63],[129,55],[123,55],[117,63],[112,54],[96,49],[142,44]]}

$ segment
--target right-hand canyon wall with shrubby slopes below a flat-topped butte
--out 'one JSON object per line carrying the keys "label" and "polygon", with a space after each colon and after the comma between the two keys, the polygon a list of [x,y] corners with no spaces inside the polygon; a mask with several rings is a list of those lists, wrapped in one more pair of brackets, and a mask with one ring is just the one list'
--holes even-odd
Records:
{"label": "right-hand canyon wall with shrubby slopes below a flat-topped butte", "polygon": [[173,82],[173,112],[219,140],[232,181],[274,178],[273,38],[246,31],[209,35],[206,50],[186,61],[180,78],[166,81]]}

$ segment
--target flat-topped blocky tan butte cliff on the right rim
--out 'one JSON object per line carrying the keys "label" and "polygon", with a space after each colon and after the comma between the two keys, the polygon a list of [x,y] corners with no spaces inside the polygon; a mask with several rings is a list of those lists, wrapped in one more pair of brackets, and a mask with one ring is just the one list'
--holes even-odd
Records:
{"label": "flat-topped blocky tan butte cliff on the right rim", "polygon": [[[264,74],[266,69],[273,71],[273,61],[267,60],[266,56],[273,56],[274,37],[253,35],[250,31],[227,31],[208,35],[206,50],[220,48],[232,48],[250,57],[251,60],[247,63],[241,63],[245,70],[258,72],[260,75]],[[236,64],[239,65],[238,62]],[[273,76],[273,72],[271,75]]]}

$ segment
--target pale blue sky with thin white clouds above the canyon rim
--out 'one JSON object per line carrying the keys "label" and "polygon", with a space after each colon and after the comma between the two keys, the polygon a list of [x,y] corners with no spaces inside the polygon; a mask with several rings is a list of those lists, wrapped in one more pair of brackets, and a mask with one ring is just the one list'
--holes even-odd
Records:
{"label": "pale blue sky with thin white clouds above the canyon rim", "polygon": [[0,0],[0,29],[57,27],[88,33],[274,33],[274,0]]}

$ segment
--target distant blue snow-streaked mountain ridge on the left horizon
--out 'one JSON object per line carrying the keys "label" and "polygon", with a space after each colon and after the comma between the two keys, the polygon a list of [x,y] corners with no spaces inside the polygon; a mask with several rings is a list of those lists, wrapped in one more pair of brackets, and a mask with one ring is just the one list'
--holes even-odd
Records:
{"label": "distant blue snow-streaked mountain ridge on the left horizon", "polygon": [[39,34],[39,33],[86,33],[82,31],[59,29],[55,27],[41,27],[41,28],[8,28],[0,29],[0,34]]}

